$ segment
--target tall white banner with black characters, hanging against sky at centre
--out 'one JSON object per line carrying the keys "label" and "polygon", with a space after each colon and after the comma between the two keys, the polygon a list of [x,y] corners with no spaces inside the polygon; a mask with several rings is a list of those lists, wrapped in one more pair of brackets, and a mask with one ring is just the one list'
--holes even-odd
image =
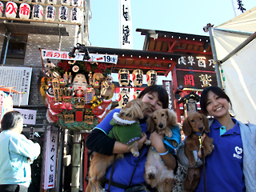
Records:
{"label": "tall white banner with black characters, hanging against sky at centre", "polygon": [[119,0],[119,21],[120,21],[120,48],[121,49],[133,49],[133,36],[132,36],[132,23],[131,23],[131,11],[130,0]]}

